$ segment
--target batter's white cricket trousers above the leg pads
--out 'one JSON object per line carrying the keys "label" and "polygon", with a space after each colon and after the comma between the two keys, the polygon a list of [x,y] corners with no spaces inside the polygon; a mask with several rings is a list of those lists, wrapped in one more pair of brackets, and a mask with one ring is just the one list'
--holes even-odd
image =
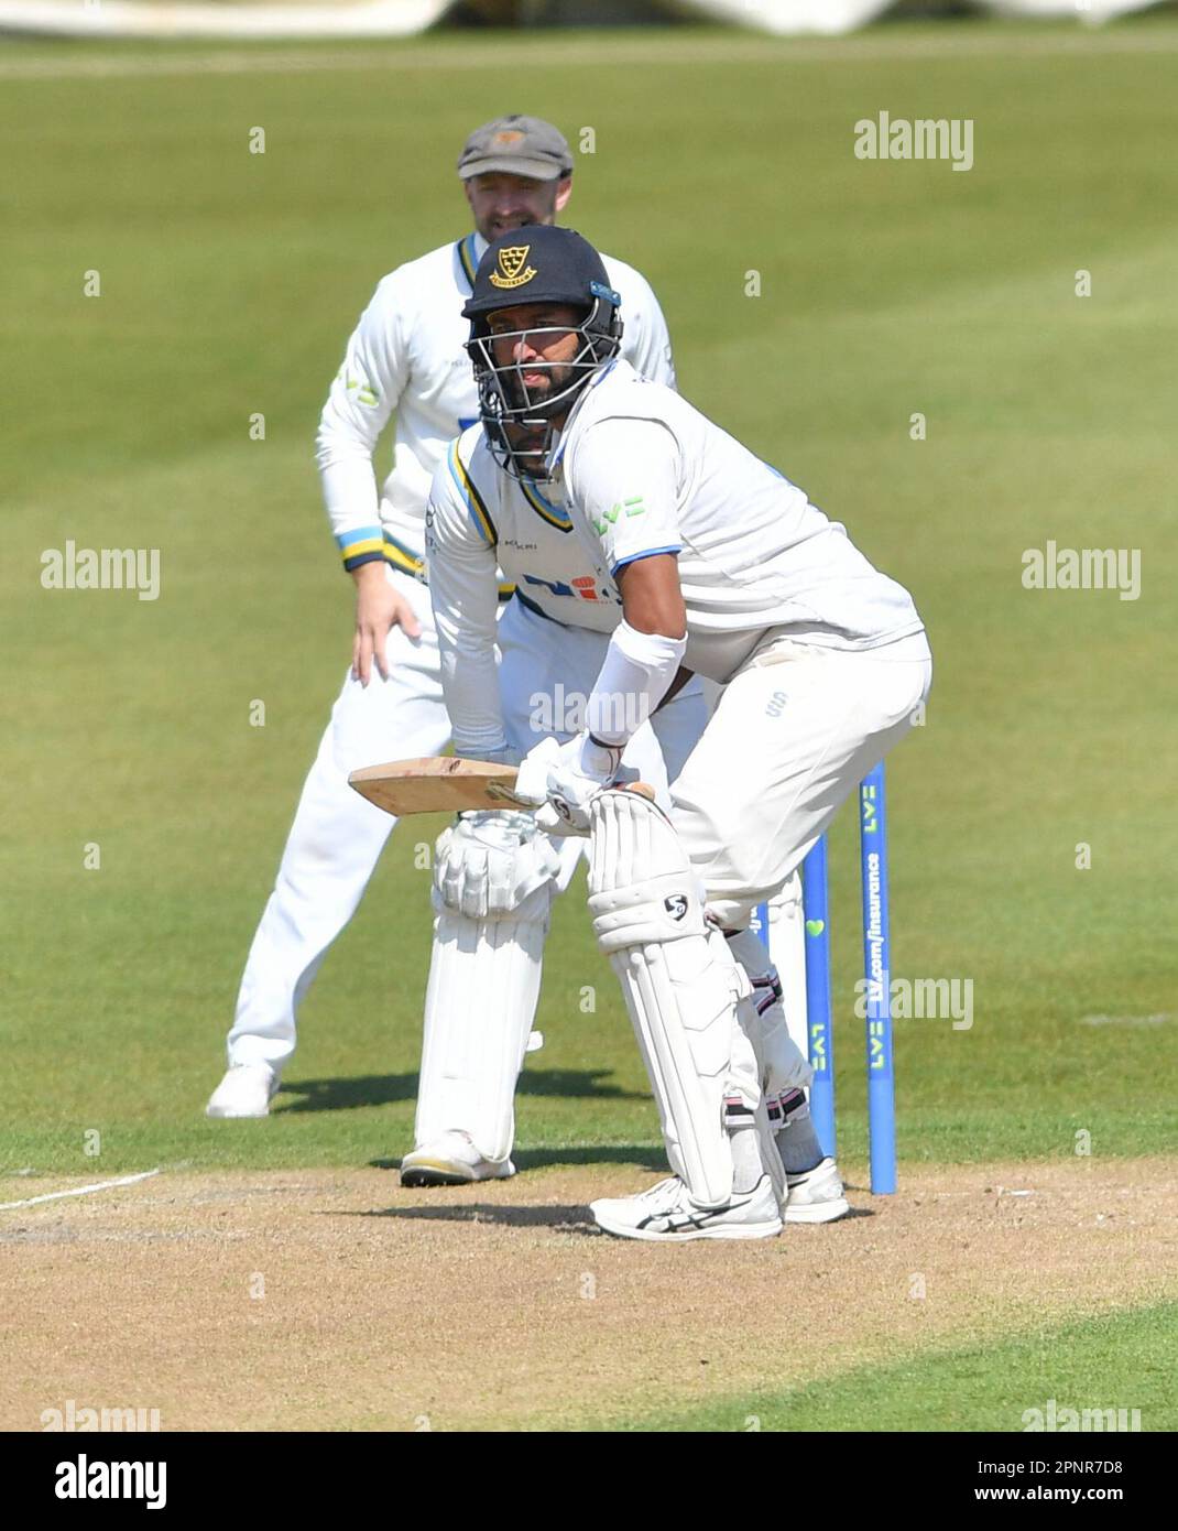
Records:
{"label": "batter's white cricket trousers above the leg pads", "polygon": [[780,891],[930,684],[923,632],[864,651],[777,638],[737,671],[672,787],[672,821],[725,928]]}

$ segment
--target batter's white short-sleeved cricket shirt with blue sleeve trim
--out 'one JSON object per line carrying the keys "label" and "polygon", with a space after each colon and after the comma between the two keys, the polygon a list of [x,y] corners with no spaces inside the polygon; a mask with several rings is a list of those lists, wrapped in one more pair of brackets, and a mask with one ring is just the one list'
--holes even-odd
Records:
{"label": "batter's white short-sleeved cricket shirt with blue sleeve trim", "polygon": [[923,631],[909,592],[840,522],[626,361],[580,397],[549,468],[600,579],[653,553],[678,554],[684,664],[711,680],[731,680],[771,629],[841,649]]}

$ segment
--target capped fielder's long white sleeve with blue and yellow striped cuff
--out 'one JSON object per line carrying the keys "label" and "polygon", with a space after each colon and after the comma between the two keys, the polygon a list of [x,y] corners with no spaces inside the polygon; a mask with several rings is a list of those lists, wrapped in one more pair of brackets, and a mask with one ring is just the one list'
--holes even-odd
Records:
{"label": "capped fielder's long white sleeve with blue and yellow striped cuff", "polygon": [[408,372],[404,283],[395,271],[360,315],[315,438],[327,519],[346,570],[384,556],[372,456]]}

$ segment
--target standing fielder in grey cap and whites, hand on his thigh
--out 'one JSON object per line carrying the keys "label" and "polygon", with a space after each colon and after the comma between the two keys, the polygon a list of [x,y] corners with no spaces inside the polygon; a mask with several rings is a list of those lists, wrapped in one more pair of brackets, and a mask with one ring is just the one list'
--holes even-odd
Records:
{"label": "standing fielder in grey cap and whites, hand on his thigh", "polygon": [[[450,739],[422,562],[422,517],[447,444],[479,413],[464,354],[462,305],[471,295],[488,240],[525,224],[552,224],[565,208],[572,191],[572,155],[551,124],[509,116],[471,133],[457,168],[473,233],[384,277],[347,343],[320,421],[317,456],[327,514],[344,570],[356,585],[352,668],[303,787],[278,877],[254,935],[228,1036],[228,1072],[207,1108],[214,1118],[268,1115],[295,1047],[298,1006],[360,903],[393,828],[389,814],[352,792],[347,773],[373,761],[438,755]],[[604,260],[610,283],[626,294],[627,360],[638,372],[673,387],[667,326],[650,286],[623,262]],[[393,468],[378,488],[373,452],[393,412]],[[546,513],[540,501],[537,505],[540,519]],[[509,594],[503,586],[497,599]],[[685,703],[696,709],[699,723],[699,695]],[[508,825],[500,833],[513,839]],[[459,848],[460,842],[451,862],[460,862]],[[482,845],[471,854],[486,859]],[[460,880],[460,865],[450,865],[447,876],[451,885]],[[534,923],[539,931],[542,922]],[[467,1003],[451,998],[456,1007]],[[534,1007],[534,998],[526,1003]],[[464,1024],[465,1018],[454,1009],[453,1020]],[[438,1024],[444,1026],[445,1018],[439,1017]],[[445,1036],[427,1038],[427,1055],[430,1049],[445,1053],[450,1046]],[[453,1047],[460,1052],[462,1040]],[[422,1110],[436,1121],[439,1113],[427,1095]],[[468,1124],[448,1119],[445,1110],[441,1118],[448,1130],[459,1130],[462,1142],[460,1130]],[[502,1157],[506,1162],[506,1153]],[[433,1159],[445,1162],[445,1154]],[[486,1170],[468,1144],[450,1170],[459,1179],[505,1173],[503,1164]]]}

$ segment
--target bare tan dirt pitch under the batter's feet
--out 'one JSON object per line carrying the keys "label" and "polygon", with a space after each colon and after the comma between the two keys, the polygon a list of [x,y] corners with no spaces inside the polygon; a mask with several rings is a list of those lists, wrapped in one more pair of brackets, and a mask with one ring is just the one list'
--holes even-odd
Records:
{"label": "bare tan dirt pitch under the batter's feet", "polygon": [[750,1245],[592,1228],[643,1183],[165,1171],[0,1213],[0,1428],[66,1399],[165,1430],[577,1428],[1178,1292],[1173,1159],[906,1168]]}

